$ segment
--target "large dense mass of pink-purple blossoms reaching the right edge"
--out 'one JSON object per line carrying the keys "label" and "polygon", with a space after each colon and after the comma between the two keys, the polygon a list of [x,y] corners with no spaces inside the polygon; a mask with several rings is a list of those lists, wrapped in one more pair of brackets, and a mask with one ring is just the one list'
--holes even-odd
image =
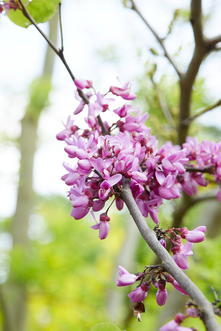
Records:
{"label": "large dense mass of pink-purple blossoms reaching the right edge", "polygon": [[[187,138],[183,149],[170,141],[158,148],[156,137],[145,124],[148,113],[141,115],[139,108],[133,110],[129,104],[114,109],[115,99],[107,98],[107,93],[95,94],[91,80],[75,79],[74,82],[77,87],[75,96],[80,102],[74,114],[87,107],[85,122],[88,128],[83,130],[74,125],[74,119],[69,116],[67,123],[63,123],[64,130],[56,137],[65,141],[65,152],[76,160],[74,164],[63,163],[67,173],[62,176],[70,186],[68,196],[73,206],[71,215],[75,219],[81,219],[90,209],[93,212],[102,210],[112,197],[116,208],[121,210],[123,201],[116,190],[122,188],[123,177],[131,180],[131,191],[143,216],[150,215],[155,223],[158,223],[163,199],[177,199],[183,190],[192,195],[197,185],[206,185],[200,169],[209,167],[210,173],[214,169],[216,181],[221,181],[221,142],[203,141],[199,144],[196,138]],[[127,82],[122,87],[111,86],[108,93],[133,100],[136,94],[131,92],[129,85]],[[81,96],[78,93],[82,89],[87,89],[84,100],[82,92]],[[117,115],[115,123],[102,123],[100,114],[107,110],[115,117]],[[199,171],[193,161],[200,167]],[[193,170],[187,172],[187,168]],[[220,196],[221,192],[218,198]],[[92,226],[99,229],[100,239],[107,237],[109,227],[110,218],[102,214],[100,222]],[[189,238],[184,230],[183,236]],[[179,253],[188,254],[186,249],[181,246]]]}

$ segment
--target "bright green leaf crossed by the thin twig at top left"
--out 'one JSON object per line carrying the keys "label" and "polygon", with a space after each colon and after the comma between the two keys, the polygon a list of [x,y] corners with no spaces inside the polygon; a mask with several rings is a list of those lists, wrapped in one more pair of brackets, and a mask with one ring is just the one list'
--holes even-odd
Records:
{"label": "bright green leaf crossed by the thin twig at top left", "polygon": [[[27,0],[23,1],[24,4],[26,2]],[[32,0],[26,9],[37,23],[43,23],[53,17],[59,2],[59,0]],[[8,17],[13,23],[25,28],[31,24],[19,9],[11,9]]]}

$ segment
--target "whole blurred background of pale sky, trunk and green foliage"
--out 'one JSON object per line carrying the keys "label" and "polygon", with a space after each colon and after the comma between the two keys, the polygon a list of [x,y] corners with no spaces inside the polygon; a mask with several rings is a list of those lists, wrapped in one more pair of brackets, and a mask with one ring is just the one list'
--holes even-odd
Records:
{"label": "whole blurred background of pale sky, trunk and green foliage", "polygon": [[[156,29],[167,36],[166,47],[181,70],[191,58],[194,40],[189,23],[190,1],[137,0],[137,7]],[[220,0],[202,1],[204,32],[220,34]],[[179,9],[179,10],[177,10]],[[58,15],[40,24],[59,47]],[[64,55],[77,78],[91,79],[96,91],[130,80],[138,98],[134,107],[149,112],[147,125],[159,139],[177,141],[179,84],[174,68],[163,56],[155,37],[138,15],[121,0],[63,0]],[[176,312],[184,312],[186,297],[167,285],[168,301],[158,307],[152,288],[145,300],[142,322],[133,316],[127,293],[133,286],[117,288],[118,265],[129,272],[142,271],[155,257],[140,236],[126,209],[111,211],[111,230],[98,238],[91,215],[71,216],[67,187],[60,177],[68,161],[63,142],[55,139],[69,114],[78,105],[73,82],[60,59],[34,26],[28,29],[0,20],[0,330],[90,330],[110,321],[121,330],[159,330]],[[191,111],[221,98],[220,52],[202,63],[194,84]],[[114,107],[116,108],[116,107]],[[163,109],[163,110],[162,110]],[[190,126],[199,140],[221,138],[220,107]],[[82,112],[75,124],[84,127]],[[70,162],[70,161],[69,161]],[[176,218],[190,229],[206,225],[206,240],[193,246],[186,272],[207,298],[214,300],[211,285],[221,296],[221,207],[214,198],[215,184],[200,188],[189,203],[165,201],[160,207],[161,226]],[[149,217],[151,228],[154,223]],[[181,223],[182,224],[182,223]],[[198,319],[184,326],[203,331]]]}

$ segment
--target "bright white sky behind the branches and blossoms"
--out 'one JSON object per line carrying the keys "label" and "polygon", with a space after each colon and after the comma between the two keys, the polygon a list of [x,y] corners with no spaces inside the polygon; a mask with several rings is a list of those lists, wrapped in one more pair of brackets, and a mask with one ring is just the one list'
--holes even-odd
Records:
{"label": "bright white sky behind the branches and blossoms", "polygon": [[[176,8],[189,8],[190,1],[181,0],[137,0],[137,7],[150,24],[163,37],[173,18]],[[185,5],[185,7],[184,7]],[[204,31],[208,37],[221,33],[220,0],[203,1],[203,12],[210,14]],[[162,74],[173,75],[174,69],[166,58],[154,57],[149,48],[154,47],[162,54],[155,37],[138,15],[122,5],[121,0],[81,0],[62,2],[62,25],[64,54],[74,75],[93,80],[96,90],[107,92],[110,85],[130,80],[136,92],[137,77],[142,75],[146,61],[157,61],[155,80]],[[47,32],[47,23],[40,24]],[[175,58],[181,69],[185,69],[192,53],[192,30],[189,23],[176,24],[166,41],[171,55],[182,45],[183,50]],[[21,133],[20,120],[28,102],[27,88],[41,74],[46,42],[34,26],[28,29],[13,24],[7,17],[0,20],[1,71],[0,131],[3,136],[16,139]],[[97,53],[112,46],[115,60],[104,61]],[[138,51],[141,56],[138,56]],[[220,98],[221,52],[208,56],[199,74],[206,78],[209,98],[216,102]],[[34,161],[34,189],[38,194],[65,195],[66,186],[60,177],[65,173],[62,162],[67,161],[64,144],[55,139],[61,131],[61,120],[66,121],[77,106],[74,86],[69,74],[59,59],[53,73],[54,90],[50,94],[50,106],[39,119],[37,151]],[[213,116],[211,116],[211,114]],[[76,116],[80,125],[85,114]],[[218,121],[217,121],[218,119]],[[220,108],[205,115],[202,120],[210,125],[221,120]],[[221,127],[221,124],[217,124]],[[11,216],[15,212],[20,152],[10,142],[0,142],[0,216]]]}

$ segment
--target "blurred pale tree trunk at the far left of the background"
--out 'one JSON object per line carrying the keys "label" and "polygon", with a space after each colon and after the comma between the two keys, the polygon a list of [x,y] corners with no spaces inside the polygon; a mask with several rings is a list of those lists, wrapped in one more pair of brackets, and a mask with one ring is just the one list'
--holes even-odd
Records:
{"label": "blurred pale tree trunk at the far left of the background", "polygon": [[[50,39],[56,44],[58,14],[49,22]],[[47,47],[42,76],[36,79],[30,88],[30,103],[22,119],[20,137],[21,166],[16,212],[11,224],[13,249],[23,251],[28,247],[28,221],[34,205],[33,160],[36,150],[37,122],[41,110],[45,107],[50,91],[50,81],[54,63],[54,52]],[[3,314],[4,331],[25,330],[26,319],[26,283],[16,280],[11,272],[8,281],[1,286],[0,303]]]}

